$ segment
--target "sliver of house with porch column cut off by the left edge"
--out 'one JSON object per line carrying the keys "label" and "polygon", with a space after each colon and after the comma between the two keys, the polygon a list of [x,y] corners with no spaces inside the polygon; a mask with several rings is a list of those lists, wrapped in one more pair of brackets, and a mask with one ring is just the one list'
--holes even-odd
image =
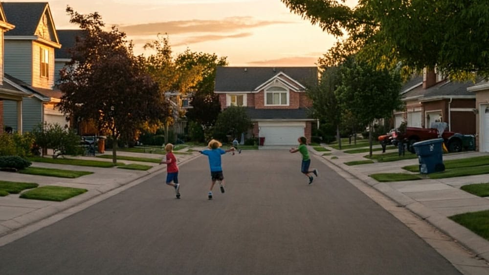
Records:
{"label": "sliver of house with porch column cut off by the left edge", "polygon": [[[12,101],[19,109],[22,109],[22,99],[29,96],[28,94],[18,90],[13,85],[10,85],[7,81],[4,81],[3,36],[5,32],[14,28],[15,26],[7,21],[5,12],[3,11],[3,6],[0,3],[0,134],[3,133],[4,127],[6,127],[3,122],[3,102],[6,100]],[[22,114],[20,112],[17,113],[15,119],[18,123],[21,123]]]}

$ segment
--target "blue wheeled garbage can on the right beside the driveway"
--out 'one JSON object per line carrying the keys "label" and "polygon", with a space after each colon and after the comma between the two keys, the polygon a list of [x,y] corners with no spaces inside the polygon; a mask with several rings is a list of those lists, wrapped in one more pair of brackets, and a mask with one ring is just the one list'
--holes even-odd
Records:
{"label": "blue wheeled garbage can on the right beside the driveway", "polygon": [[413,148],[418,155],[420,173],[429,174],[445,171],[443,164],[443,138],[416,142]]}

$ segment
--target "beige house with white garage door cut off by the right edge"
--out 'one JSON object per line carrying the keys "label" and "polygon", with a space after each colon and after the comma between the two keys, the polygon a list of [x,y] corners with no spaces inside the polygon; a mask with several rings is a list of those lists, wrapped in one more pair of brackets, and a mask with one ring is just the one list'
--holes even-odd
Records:
{"label": "beige house with white garage door cut off by the right edge", "polygon": [[467,90],[475,94],[476,145],[481,152],[489,152],[489,83],[481,81]]}

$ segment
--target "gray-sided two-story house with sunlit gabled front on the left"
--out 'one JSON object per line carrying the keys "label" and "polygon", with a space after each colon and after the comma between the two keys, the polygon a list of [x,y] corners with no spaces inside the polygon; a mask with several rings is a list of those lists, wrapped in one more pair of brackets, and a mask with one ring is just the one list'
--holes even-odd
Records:
{"label": "gray-sided two-story house with sunlit gabled front on the left", "polygon": [[[3,3],[5,15],[16,28],[5,34],[5,73],[31,93],[22,101],[22,127],[15,114],[15,102],[4,101],[4,123],[14,130],[31,131],[40,123],[67,125],[64,114],[55,109],[61,91],[53,89],[54,49],[61,48],[47,2]],[[8,77],[7,77],[8,78]]]}

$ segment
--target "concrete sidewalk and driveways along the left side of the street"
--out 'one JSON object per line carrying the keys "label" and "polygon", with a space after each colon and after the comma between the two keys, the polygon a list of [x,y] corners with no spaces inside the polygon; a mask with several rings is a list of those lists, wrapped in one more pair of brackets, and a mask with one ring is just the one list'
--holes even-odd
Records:
{"label": "concrete sidewalk and driveways along the left side of the street", "polygon": [[[201,148],[193,148],[194,150],[200,150]],[[105,152],[105,154],[111,155],[111,151]],[[160,154],[147,154],[147,153],[132,153],[117,151],[118,156],[132,156],[132,157],[145,157],[145,158],[155,158],[162,159],[164,155]],[[198,151],[189,151],[188,154],[178,154],[176,157],[178,160],[178,165],[188,162],[200,153]],[[94,158],[94,157],[73,157],[78,159],[87,160],[97,160],[97,161],[108,161],[111,159],[104,158]],[[0,238],[2,236],[13,233],[19,229],[25,228],[33,223],[46,219],[56,213],[63,212],[72,207],[82,204],[83,202],[94,199],[102,194],[107,194],[112,190],[120,189],[121,187],[127,187],[131,183],[149,178],[155,174],[162,173],[166,171],[166,165],[158,165],[157,163],[148,162],[134,162],[120,160],[125,164],[138,163],[144,165],[153,166],[153,168],[147,171],[140,170],[126,170],[113,168],[96,168],[96,167],[85,167],[85,166],[72,166],[72,165],[57,165],[49,163],[34,163],[35,167],[45,167],[45,168],[57,168],[57,169],[69,169],[69,170],[80,170],[80,171],[90,171],[93,174],[86,175],[75,179],[64,179],[58,177],[46,177],[46,176],[36,176],[12,172],[0,171],[0,179],[4,181],[14,181],[14,182],[32,182],[37,183],[39,186],[45,185],[55,185],[55,186],[65,186],[74,188],[83,188],[88,191],[78,195],[76,197],[67,199],[63,202],[53,202],[53,201],[42,201],[42,200],[27,200],[19,198],[19,195],[8,195],[6,197],[0,197]],[[164,181],[164,179],[162,179]],[[3,242],[0,241],[0,246]]]}

